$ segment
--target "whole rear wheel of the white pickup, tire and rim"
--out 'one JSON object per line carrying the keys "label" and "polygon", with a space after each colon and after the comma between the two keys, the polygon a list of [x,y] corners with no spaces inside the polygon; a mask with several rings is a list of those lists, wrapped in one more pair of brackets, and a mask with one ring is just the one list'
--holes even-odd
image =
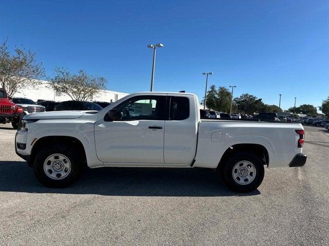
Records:
{"label": "whole rear wheel of the white pickup, tire and rim", "polygon": [[225,184],[235,192],[251,192],[264,178],[264,162],[249,152],[234,154],[221,168]]}

